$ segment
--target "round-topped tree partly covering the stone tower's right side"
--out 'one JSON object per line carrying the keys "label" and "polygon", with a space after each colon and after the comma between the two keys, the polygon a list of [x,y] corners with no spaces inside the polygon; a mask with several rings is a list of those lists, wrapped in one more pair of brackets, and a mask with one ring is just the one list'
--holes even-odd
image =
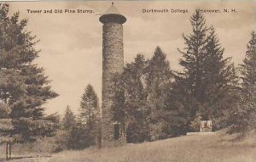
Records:
{"label": "round-topped tree partly covering the stone tower's right side", "polygon": [[146,74],[148,61],[137,54],[134,62],[125,64],[115,78],[113,120],[125,123],[127,142],[148,141],[148,108],[146,107]]}

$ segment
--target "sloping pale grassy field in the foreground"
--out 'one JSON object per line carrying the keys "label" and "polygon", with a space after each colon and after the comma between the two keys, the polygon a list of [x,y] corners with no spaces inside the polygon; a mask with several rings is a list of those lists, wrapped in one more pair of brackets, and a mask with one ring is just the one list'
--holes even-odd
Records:
{"label": "sloping pale grassy field in the foreground", "polygon": [[256,162],[256,133],[246,137],[223,132],[195,134],[119,148],[64,151],[51,157],[11,162]]}

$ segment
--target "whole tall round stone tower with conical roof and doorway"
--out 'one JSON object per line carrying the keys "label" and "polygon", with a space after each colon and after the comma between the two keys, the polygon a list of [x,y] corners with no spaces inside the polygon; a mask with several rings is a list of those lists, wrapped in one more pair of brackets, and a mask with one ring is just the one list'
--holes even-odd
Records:
{"label": "whole tall round stone tower with conical roof and doorway", "polygon": [[102,29],[102,146],[126,142],[125,126],[113,121],[113,76],[124,68],[123,25],[125,16],[112,6],[100,21]]}

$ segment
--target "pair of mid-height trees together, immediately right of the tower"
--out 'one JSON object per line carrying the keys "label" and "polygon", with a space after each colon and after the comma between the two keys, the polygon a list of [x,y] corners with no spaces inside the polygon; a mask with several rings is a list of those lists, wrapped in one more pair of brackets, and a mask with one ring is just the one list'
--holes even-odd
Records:
{"label": "pair of mid-height trees together, immediately right of the tower", "polygon": [[114,120],[127,125],[127,141],[143,142],[165,138],[167,117],[166,93],[170,90],[172,71],[166,54],[156,47],[150,60],[138,54],[117,77]]}

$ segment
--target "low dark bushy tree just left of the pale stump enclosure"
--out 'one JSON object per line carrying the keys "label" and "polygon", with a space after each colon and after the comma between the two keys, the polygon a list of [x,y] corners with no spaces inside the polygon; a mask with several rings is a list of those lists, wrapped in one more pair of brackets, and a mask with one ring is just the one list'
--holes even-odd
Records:
{"label": "low dark bushy tree just left of the pale stump enclosure", "polygon": [[191,120],[190,109],[195,108],[195,98],[186,94],[186,89],[180,82],[173,81],[166,88],[165,114],[166,125],[164,133],[167,137],[177,137],[186,134]]}

